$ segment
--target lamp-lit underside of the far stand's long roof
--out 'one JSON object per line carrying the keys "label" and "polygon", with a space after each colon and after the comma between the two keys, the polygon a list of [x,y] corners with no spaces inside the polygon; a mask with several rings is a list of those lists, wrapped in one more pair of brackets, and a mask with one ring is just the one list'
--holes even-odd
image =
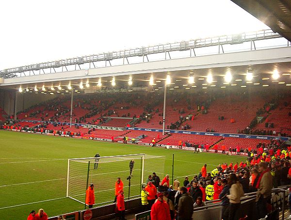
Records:
{"label": "lamp-lit underside of the far stand's long roof", "polygon": [[[274,69],[279,73],[278,79],[273,78]],[[226,72],[230,72],[232,80],[226,83],[225,75]],[[253,79],[247,80],[247,73],[252,73]],[[211,73],[212,82],[208,82],[208,76]],[[108,76],[101,78],[102,86],[98,86],[100,78],[89,78],[89,79],[73,79],[65,81],[55,82],[44,82],[44,83],[33,83],[33,84],[22,84],[23,92],[34,92],[35,86],[39,92],[42,93],[69,93],[68,85],[71,85],[76,92],[81,93],[92,93],[103,91],[123,91],[129,90],[147,90],[147,91],[159,91],[164,87],[166,76],[170,74],[171,84],[167,85],[170,90],[181,90],[181,89],[207,89],[207,88],[229,88],[229,87],[262,87],[262,86],[281,86],[281,88],[287,88],[286,85],[291,86],[291,62],[275,63],[275,64],[259,64],[252,65],[250,68],[248,65],[235,66],[235,67],[219,67],[219,68],[202,68],[194,70],[179,70],[179,71],[161,71],[153,73],[142,73],[136,75],[119,75],[119,76]],[[153,76],[153,84],[149,85],[150,77]],[[194,83],[189,82],[190,77],[194,77]],[[116,85],[112,85],[113,77]],[[129,77],[131,77],[132,85],[129,85]],[[83,88],[80,88],[82,83]],[[86,87],[86,83],[90,86]],[[53,85],[53,90],[51,86]],[[45,87],[47,92],[42,91],[42,87]],[[61,86],[62,89],[58,89]],[[288,86],[288,87],[289,87]],[[6,89],[18,89],[19,85],[7,85],[3,86]]]}

